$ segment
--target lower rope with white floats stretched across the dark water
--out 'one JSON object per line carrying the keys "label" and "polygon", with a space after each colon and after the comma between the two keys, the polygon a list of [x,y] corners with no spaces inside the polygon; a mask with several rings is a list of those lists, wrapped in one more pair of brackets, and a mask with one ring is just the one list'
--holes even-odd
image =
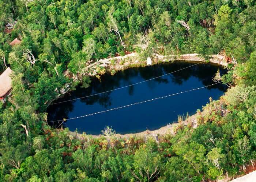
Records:
{"label": "lower rope with white floats stretched across the dark water", "polygon": [[222,82],[213,83],[213,84],[210,84],[210,85],[207,85],[207,86],[204,86],[204,87],[194,88],[194,89],[192,89],[192,90],[187,90],[187,91],[183,91],[183,92],[178,92],[178,93],[176,93],[176,94],[170,94],[170,95],[166,95],[166,96],[157,97],[157,98],[154,98],[154,99],[144,100],[144,101],[141,101],[141,102],[136,102],[136,103],[128,104],[128,105],[121,106],[121,107],[116,107],[116,108],[108,109],[108,110],[105,110],[105,111],[94,112],[94,113],[92,113],[92,114],[87,114],[87,115],[78,116],[78,117],[69,118],[69,119],[61,119],[61,120],[49,121],[48,123],[60,122],[60,121],[64,121],[64,120],[72,120],[72,119],[84,118],[84,117],[92,116],[92,115],[99,114],[99,113],[102,113],[102,112],[108,112],[108,111],[112,111],[112,110],[116,110],[116,109],[120,109],[120,108],[124,108],[124,107],[129,107],[129,106],[133,106],[133,105],[137,105],[137,104],[141,104],[141,103],[145,103],[145,102],[150,102],[150,101],[153,101],[153,100],[158,100],[158,99],[167,98],[167,97],[169,97],[169,96],[178,95],[178,94],[182,94],[182,93],[185,93],[185,92],[190,92],[190,91],[194,91],[194,90],[199,90],[199,89],[206,88],[206,87],[210,87],[210,86],[213,86],[213,85],[216,85],[216,84],[219,84],[219,83],[222,83]]}

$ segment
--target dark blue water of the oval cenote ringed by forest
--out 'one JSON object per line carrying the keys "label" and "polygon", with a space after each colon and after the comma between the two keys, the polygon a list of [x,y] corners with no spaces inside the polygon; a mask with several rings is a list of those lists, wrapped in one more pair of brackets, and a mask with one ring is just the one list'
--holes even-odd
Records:
{"label": "dark blue water of the oval cenote ringed by forest", "polygon": [[[118,71],[113,76],[105,74],[101,76],[101,80],[93,78],[89,88],[78,87],[70,94],[66,94],[63,98],[56,100],[56,102],[76,99],[142,82],[143,80],[167,74],[193,64],[195,63],[180,61],[161,63],[147,67],[129,68],[124,71]],[[73,118],[207,86],[214,83],[212,77],[218,69],[220,69],[221,74],[225,73],[222,67],[214,64],[197,64],[196,66],[131,87],[54,104],[48,107],[48,121]],[[187,112],[189,115],[195,114],[196,110],[198,108],[201,109],[209,101],[210,97],[216,100],[223,95],[226,89],[227,87],[220,83],[152,102],[103,112],[80,119],[68,120],[64,123],[64,127],[68,127],[70,131],[78,130],[78,132],[86,132],[87,134],[100,134],[101,130],[106,126],[112,126],[117,133],[121,134],[140,132],[146,129],[155,130],[166,126],[166,123],[175,122],[177,115],[185,115]],[[59,123],[55,123],[55,126],[59,126]]]}

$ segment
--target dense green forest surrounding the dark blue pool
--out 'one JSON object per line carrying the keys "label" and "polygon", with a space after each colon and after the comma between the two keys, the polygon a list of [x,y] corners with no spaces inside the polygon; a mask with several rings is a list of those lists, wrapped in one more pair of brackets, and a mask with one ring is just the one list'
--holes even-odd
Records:
{"label": "dense green forest surrounding the dark blue pool", "polygon": [[[255,7],[255,0],[0,0],[0,72],[5,64],[14,71],[12,95],[0,102],[1,181],[206,181],[245,170],[256,156]],[[15,25],[5,33],[8,23]],[[17,37],[21,44],[10,46]],[[199,112],[197,128],[180,127],[159,143],[106,131],[78,139],[46,124],[46,106],[61,91],[89,87],[90,64],[125,51],[141,60],[222,52],[232,60],[221,78],[230,88]],[[98,76],[106,71],[96,66]]]}

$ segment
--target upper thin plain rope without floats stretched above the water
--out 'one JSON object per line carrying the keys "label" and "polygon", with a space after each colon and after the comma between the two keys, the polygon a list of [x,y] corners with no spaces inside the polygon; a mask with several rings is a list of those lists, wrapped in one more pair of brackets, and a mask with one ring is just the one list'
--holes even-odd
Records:
{"label": "upper thin plain rope without floats stretched above the water", "polygon": [[[203,61],[200,62],[200,63],[203,63]],[[178,71],[187,69],[187,68],[189,68],[189,67],[196,66],[197,64],[200,64],[200,63],[196,63],[196,64],[193,64],[193,65],[191,65],[191,66],[188,66],[188,67],[185,67],[185,68],[181,68],[180,70],[176,70],[176,71],[173,71],[173,72],[170,72],[170,73],[161,75],[161,76],[157,76],[157,77],[154,77],[154,78],[151,78],[151,79],[148,79],[148,80],[144,80],[144,81],[142,81],[142,82],[133,83],[133,84],[131,84],[131,85],[127,85],[127,86],[124,86],[124,87],[115,88],[115,89],[113,89],[113,90],[108,90],[108,91],[105,91],[105,92],[100,92],[100,93],[97,93],[97,94],[92,94],[92,95],[88,95],[88,96],[84,96],[84,97],[80,97],[80,98],[76,98],[76,99],[64,100],[64,101],[52,103],[52,104],[49,104],[49,105],[60,104],[60,103],[69,102],[69,101],[72,101],[72,100],[83,99],[83,98],[87,98],[87,97],[91,97],[91,96],[95,96],[95,95],[105,94],[105,93],[107,93],[107,92],[112,92],[112,91],[119,90],[119,89],[122,89],[122,88],[131,87],[131,86],[133,86],[133,85],[137,85],[137,84],[140,84],[140,83],[148,82],[148,81],[150,81],[150,80],[154,80],[154,79],[160,78],[160,77],[162,77],[162,76],[166,76],[166,75],[173,74],[173,73],[175,73],[175,72],[178,72]],[[47,106],[49,106],[49,105],[47,105]]]}

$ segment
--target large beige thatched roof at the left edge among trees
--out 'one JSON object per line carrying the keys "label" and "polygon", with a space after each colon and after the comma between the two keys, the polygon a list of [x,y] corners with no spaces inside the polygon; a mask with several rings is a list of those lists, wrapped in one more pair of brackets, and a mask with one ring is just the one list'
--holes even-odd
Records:
{"label": "large beige thatched roof at the left edge among trees", "polygon": [[12,70],[8,67],[1,75],[0,75],[0,97],[5,96],[12,88],[12,80],[11,75]]}

